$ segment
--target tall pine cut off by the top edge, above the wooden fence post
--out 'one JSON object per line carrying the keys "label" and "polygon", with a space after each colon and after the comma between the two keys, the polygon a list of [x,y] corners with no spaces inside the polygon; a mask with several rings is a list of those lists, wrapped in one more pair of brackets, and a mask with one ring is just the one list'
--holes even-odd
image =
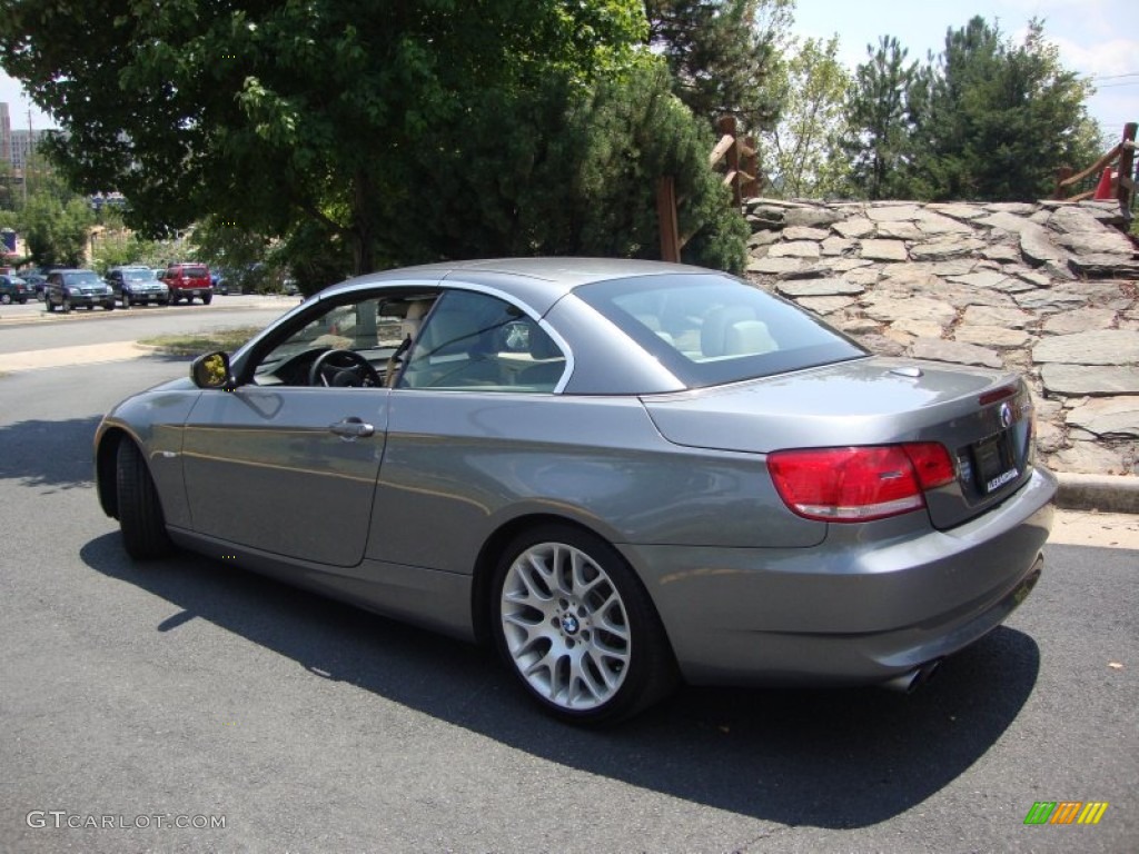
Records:
{"label": "tall pine cut off by the top edge, above the wooden fence post", "polygon": [[793,0],[645,0],[649,44],[664,56],[675,92],[714,123],[734,115],[743,131],[769,128],[779,102],[769,81]]}

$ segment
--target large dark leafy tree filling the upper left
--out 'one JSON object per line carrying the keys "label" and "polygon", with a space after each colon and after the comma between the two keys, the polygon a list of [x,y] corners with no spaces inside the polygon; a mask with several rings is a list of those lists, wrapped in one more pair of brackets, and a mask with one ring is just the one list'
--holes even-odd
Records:
{"label": "large dark leafy tree filling the upper left", "polygon": [[[319,223],[352,269],[399,261],[428,132],[551,72],[587,87],[645,40],[633,0],[15,0],[0,64],[68,132],[84,191],[169,235],[212,216],[267,236]],[[445,151],[442,154],[446,154]]]}

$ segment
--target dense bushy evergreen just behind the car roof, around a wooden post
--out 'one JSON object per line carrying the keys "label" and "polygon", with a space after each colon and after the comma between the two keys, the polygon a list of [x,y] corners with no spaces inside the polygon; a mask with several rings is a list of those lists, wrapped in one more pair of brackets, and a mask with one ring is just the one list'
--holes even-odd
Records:
{"label": "dense bushy evergreen just behind the car roof, around a wooden post", "polygon": [[[503,136],[502,128],[510,128]],[[446,131],[448,129],[444,129]],[[487,93],[459,140],[423,173],[429,215],[400,232],[429,257],[597,255],[659,257],[656,182],[673,175],[685,257],[740,270],[746,224],[708,169],[711,130],[671,93],[667,71],[644,63],[582,89],[551,75],[525,96]]]}

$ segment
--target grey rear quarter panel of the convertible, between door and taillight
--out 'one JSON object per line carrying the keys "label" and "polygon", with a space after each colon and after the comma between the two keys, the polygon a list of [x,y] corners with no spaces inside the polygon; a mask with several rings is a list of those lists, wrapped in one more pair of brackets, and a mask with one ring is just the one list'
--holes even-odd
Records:
{"label": "grey rear quarter panel of the convertible, between door and taillight", "polygon": [[470,573],[521,516],[614,543],[806,548],[757,454],[680,447],[630,397],[395,392],[368,557]]}

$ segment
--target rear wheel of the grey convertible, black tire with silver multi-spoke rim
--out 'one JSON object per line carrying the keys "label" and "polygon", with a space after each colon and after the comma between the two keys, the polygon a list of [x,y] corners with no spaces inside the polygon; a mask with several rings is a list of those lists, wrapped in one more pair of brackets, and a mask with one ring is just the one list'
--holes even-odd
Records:
{"label": "rear wheel of the grey convertible, black tire with silver multi-spoke rim", "polygon": [[509,671],[568,723],[622,721],[677,683],[645,586],[616,549],[580,528],[546,524],[515,537],[494,569],[490,610]]}

